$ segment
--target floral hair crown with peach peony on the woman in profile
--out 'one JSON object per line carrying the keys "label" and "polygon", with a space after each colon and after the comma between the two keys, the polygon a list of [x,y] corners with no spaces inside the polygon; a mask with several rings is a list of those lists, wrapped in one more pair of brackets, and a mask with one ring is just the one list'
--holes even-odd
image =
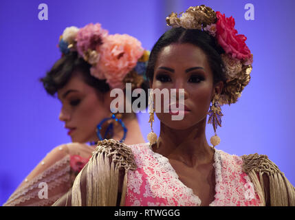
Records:
{"label": "floral hair crown with peach peony on the woman in profile", "polygon": [[65,28],[58,47],[63,55],[78,52],[91,65],[91,75],[106,80],[111,89],[123,89],[125,83],[140,87],[145,79],[149,52],[133,36],[108,34],[100,23]]}

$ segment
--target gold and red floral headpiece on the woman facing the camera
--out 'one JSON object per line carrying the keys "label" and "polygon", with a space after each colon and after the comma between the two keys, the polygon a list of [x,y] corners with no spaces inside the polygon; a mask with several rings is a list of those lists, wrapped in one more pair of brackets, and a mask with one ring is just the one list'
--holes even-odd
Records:
{"label": "gold and red floral headpiece on the woman facing the camera", "polygon": [[221,54],[221,58],[226,84],[218,103],[222,105],[237,102],[244,87],[250,82],[252,71],[253,55],[245,44],[247,38],[243,34],[237,34],[232,17],[227,18],[205,5],[190,7],[179,16],[172,12],[166,17],[167,25],[208,32],[223,48],[225,53]]}

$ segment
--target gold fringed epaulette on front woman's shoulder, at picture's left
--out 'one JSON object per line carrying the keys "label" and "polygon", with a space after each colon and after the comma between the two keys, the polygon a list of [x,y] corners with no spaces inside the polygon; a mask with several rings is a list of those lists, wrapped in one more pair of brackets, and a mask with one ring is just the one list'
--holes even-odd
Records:
{"label": "gold fringed epaulette on front woman's shoulder, at picture's left", "polygon": [[[87,167],[87,168],[86,168]],[[124,206],[127,193],[127,175],[136,170],[133,153],[126,145],[116,140],[98,142],[96,151],[86,168],[86,206],[116,206],[118,199],[119,171],[124,169],[124,181],[120,206]],[[83,170],[84,170],[83,168]],[[72,206],[81,206],[80,179],[78,174],[72,188]]]}

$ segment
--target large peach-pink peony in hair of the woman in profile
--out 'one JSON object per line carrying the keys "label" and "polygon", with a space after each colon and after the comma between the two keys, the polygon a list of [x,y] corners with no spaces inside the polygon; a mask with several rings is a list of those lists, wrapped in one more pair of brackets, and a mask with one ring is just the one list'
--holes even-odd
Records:
{"label": "large peach-pink peony in hair of the woman in profile", "polygon": [[91,74],[106,78],[111,88],[124,88],[124,77],[135,67],[144,49],[138,39],[128,34],[114,34],[105,38],[100,47],[100,61]]}

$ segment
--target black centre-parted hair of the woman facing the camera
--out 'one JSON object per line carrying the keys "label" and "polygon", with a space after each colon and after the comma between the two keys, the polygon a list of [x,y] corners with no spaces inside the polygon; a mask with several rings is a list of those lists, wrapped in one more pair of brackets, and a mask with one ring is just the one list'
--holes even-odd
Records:
{"label": "black centre-parted hair of the woman facing the camera", "polygon": [[164,47],[173,43],[190,43],[199,47],[207,56],[213,74],[213,83],[226,81],[226,76],[223,73],[223,61],[220,56],[224,53],[224,50],[217,44],[213,36],[197,29],[172,28],[160,37],[151,50],[149,63],[146,69],[146,76],[149,78],[150,82],[153,81],[158,54]]}

